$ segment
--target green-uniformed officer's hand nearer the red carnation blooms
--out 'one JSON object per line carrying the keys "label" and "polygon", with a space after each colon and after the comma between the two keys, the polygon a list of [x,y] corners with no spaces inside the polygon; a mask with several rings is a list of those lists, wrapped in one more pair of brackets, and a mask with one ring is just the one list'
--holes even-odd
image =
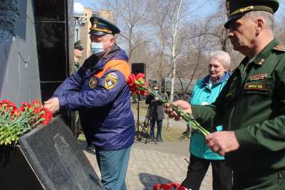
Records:
{"label": "green-uniformed officer's hand nearer the red carnation blooms", "polygon": [[[176,102],[172,102],[171,104],[174,105],[175,107],[179,107],[185,113],[192,114],[191,105],[184,100],[177,100]],[[172,110],[172,108],[169,104],[165,103],[163,106],[165,107],[165,113],[170,118],[175,117],[175,120],[180,120],[180,115],[177,115],[177,113]]]}

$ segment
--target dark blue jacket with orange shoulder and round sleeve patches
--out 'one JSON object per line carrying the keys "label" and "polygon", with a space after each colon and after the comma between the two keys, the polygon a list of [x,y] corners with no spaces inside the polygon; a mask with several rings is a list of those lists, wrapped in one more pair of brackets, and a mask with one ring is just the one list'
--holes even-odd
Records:
{"label": "dark blue jacket with orange shoulder and round sleeve patches", "polygon": [[123,149],[134,142],[127,62],[125,51],[115,45],[105,58],[86,59],[53,94],[61,107],[79,110],[81,124],[98,150]]}

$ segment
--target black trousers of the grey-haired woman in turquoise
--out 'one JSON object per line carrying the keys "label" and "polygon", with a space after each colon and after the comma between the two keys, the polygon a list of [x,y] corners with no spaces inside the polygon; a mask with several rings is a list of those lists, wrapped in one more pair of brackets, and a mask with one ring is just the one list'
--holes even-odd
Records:
{"label": "black trousers of the grey-haired woman in turquoise", "polygon": [[224,160],[200,159],[193,154],[190,155],[187,176],[182,185],[188,189],[199,190],[209,164],[212,164],[213,190],[231,190],[232,170]]}

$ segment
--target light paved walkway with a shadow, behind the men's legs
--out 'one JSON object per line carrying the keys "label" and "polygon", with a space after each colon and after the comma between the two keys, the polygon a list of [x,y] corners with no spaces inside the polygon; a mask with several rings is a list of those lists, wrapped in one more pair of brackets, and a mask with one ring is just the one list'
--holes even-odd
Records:
{"label": "light paved walkway with a shadow, behind the men's legs", "polygon": [[[85,147],[85,144],[82,144]],[[186,176],[189,142],[136,142],[130,154],[126,183],[129,190],[152,190],[154,184],[175,181],[181,183]],[[95,155],[84,151],[100,177]],[[209,169],[201,190],[212,189],[212,171]],[[120,189],[118,189],[120,190]]]}

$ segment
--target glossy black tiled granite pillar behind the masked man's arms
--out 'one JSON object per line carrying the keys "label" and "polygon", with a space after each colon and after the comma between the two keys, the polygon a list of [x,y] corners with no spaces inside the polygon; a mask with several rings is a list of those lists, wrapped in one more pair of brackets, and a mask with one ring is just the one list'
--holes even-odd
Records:
{"label": "glossy black tiled granite pillar behind the masked man's arms", "polygon": [[34,0],[34,10],[41,95],[47,100],[68,77],[73,59],[73,0]]}

